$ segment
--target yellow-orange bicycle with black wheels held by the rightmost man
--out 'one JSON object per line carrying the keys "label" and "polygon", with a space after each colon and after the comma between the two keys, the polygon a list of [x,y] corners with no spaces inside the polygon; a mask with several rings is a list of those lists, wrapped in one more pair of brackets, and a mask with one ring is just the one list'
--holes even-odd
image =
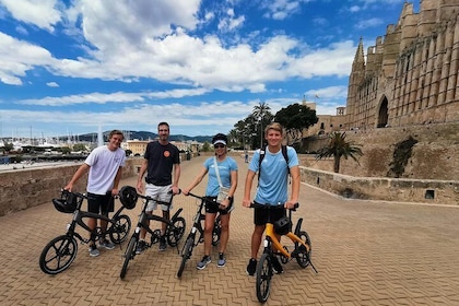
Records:
{"label": "yellow-orange bicycle with black wheels held by the rightmost man", "polygon": [[[298,207],[295,205],[294,209]],[[266,210],[284,210],[284,205],[270,205],[270,204],[259,204],[251,203],[250,208],[256,209],[266,209]],[[271,222],[270,213],[268,213],[268,221],[264,228],[264,240],[263,240],[263,254],[260,257],[260,260],[257,263],[256,269],[256,289],[257,297],[260,303],[264,303],[270,293],[271,279],[273,275],[272,260],[274,256],[281,259],[282,263],[287,263],[292,259],[296,259],[299,267],[305,269],[310,266],[314,272],[317,274],[317,270],[310,261],[311,256],[311,244],[309,235],[306,231],[302,231],[303,219],[299,219],[295,226],[295,232],[292,232],[292,210],[289,210],[289,216],[284,216],[276,222]],[[294,249],[292,252],[289,251],[286,246],[283,246],[279,239],[278,235],[287,236],[294,244]]]}

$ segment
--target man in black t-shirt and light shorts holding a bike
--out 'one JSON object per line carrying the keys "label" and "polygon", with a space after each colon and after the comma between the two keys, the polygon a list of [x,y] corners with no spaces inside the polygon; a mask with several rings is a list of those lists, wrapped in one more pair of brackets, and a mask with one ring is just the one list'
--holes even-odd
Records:
{"label": "man in black t-shirt and light shorts holding a bike", "polygon": [[[143,155],[144,160],[139,170],[137,189],[141,193],[145,191],[145,196],[150,196],[155,200],[168,202],[172,197],[170,190],[174,195],[179,192],[180,153],[177,146],[169,142],[169,125],[167,122],[160,122],[157,125],[157,134],[160,140],[150,142],[146,145],[145,154]],[[142,178],[145,173],[146,184],[145,189],[143,189]],[[146,208],[146,213],[153,214],[156,208],[156,202],[150,202]],[[163,217],[170,217],[169,210],[172,208],[172,205],[161,205]],[[165,232],[166,224],[162,223],[160,250],[165,250],[167,247]],[[145,249],[145,235],[146,231],[142,228],[140,232],[140,242],[136,250],[137,254],[141,254]]]}

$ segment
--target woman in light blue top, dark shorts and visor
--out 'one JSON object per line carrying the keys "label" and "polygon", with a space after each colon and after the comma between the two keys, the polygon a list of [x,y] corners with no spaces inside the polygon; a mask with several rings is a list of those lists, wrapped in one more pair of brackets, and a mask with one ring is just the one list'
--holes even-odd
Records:
{"label": "woman in light blue top, dark shorts and visor", "polygon": [[[212,229],[216,213],[221,215],[222,233],[220,236],[220,252],[216,267],[223,268],[226,264],[225,251],[229,237],[229,215],[233,209],[233,196],[237,187],[237,163],[232,157],[226,156],[227,138],[225,134],[217,133],[212,139],[215,156],[205,160],[200,173],[196,176],[190,186],[183,190],[185,196],[198,186],[207,175],[208,186],[205,197],[212,202],[205,202],[205,222],[204,222],[204,257],[198,262],[197,269],[202,270],[212,261]],[[227,188],[227,197],[221,202],[216,201],[221,187]]]}

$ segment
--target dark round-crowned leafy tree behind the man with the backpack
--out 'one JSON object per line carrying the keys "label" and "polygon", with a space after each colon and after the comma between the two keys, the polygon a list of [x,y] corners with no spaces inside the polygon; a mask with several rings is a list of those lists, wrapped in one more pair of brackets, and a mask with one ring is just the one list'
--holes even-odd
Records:
{"label": "dark round-crowned leafy tree behind the man with the backpack", "polygon": [[292,143],[295,143],[304,138],[303,131],[317,123],[319,118],[316,110],[295,103],[275,113],[274,120],[285,128]]}

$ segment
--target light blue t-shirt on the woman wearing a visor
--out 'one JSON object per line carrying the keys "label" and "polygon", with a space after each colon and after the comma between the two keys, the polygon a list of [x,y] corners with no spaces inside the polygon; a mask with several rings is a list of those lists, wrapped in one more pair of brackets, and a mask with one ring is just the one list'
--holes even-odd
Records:
{"label": "light blue t-shirt on the woman wearing a visor", "polygon": [[[205,188],[205,196],[216,197],[219,195],[219,179],[215,173],[215,157],[205,160],[203,166],[208,169],[208,187]],[[223,187],[231,187],[231,173],[237,170],[237,163],[232,157],[226,157],[222,162],[216,161],[219,166],[220,179],[222,180]]]}

